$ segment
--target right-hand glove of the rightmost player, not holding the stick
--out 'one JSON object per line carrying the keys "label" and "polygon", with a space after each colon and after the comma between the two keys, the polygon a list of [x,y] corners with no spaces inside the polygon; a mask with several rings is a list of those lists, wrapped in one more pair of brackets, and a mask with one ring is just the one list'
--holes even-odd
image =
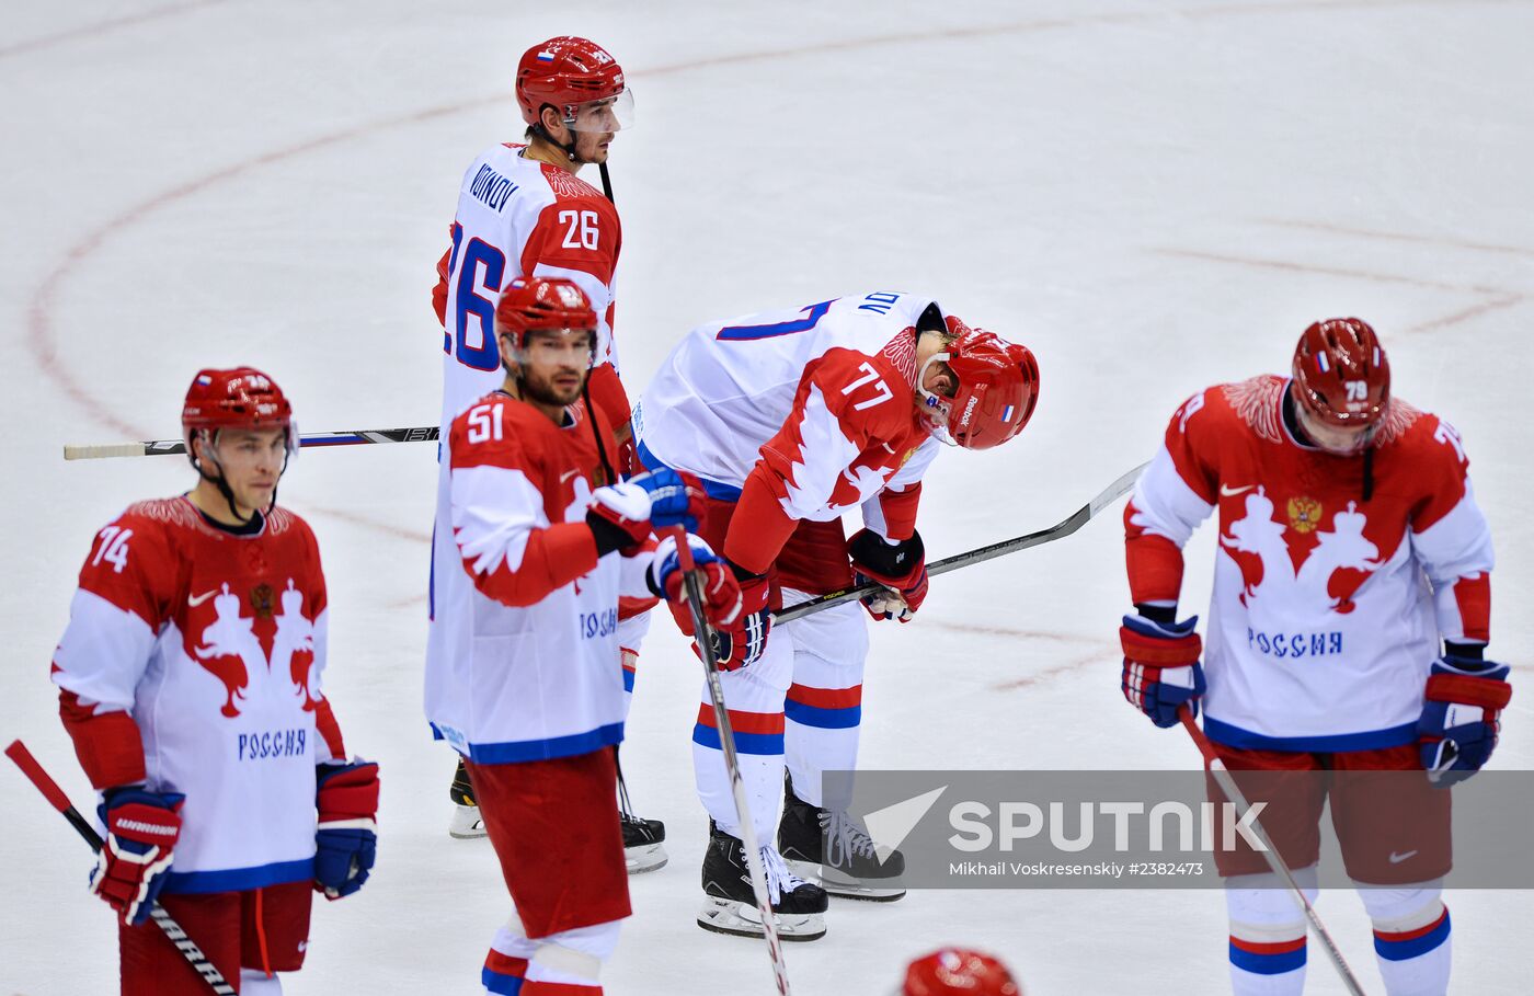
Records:
{"label": "right-hand glove of the rightmost player, not holding the stick", "polygon": [[1428,672],[1417,744],[1428,781],[1440,789],[1480,770],[1497,746],[1502,707],[1513,698],[1508,666],[1445,654]]}

